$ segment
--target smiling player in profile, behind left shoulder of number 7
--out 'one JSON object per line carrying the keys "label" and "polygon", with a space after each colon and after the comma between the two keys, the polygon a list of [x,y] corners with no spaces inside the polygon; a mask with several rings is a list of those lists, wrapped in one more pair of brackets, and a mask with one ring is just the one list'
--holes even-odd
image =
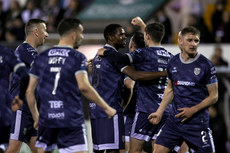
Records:
{"label": "smiling player in profile, behind left shoulder of number 7", "polygon": [[[45,21],[41,19],[30,19],[25,26],[26,40],[19,45],[15,54],[25,63],[27,71],[30,70],[34,59],[37,56],[37,47],[45,42],[48,37]],[[10,87],[10,94],[15,97],[19,93],[20,80],[17,74],[13,74]],[[23,106],[14,114],[13,125],[11,127],[10,144],[7,153],[19,152],[22,142],[28,143],[32,152],[37,152],[35,142],[37,131],[33,128],[33,118],[28,108],[26,99],[23,99]]]}

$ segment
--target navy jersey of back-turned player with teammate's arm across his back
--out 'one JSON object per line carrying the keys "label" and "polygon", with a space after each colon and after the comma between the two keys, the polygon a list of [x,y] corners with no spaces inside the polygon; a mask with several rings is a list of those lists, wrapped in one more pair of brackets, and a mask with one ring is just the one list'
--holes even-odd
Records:
{"label": "navy jersey of back-turned player with teammate's arm across his back", "polygon": [[[167,68],[173,55],[163,47],[145,47],[128,53],[132,64],[137,71],[158,72]],[[137,81],[137,111],[155,112],[162,100],[164,89],[167,85],[167,77],[151,81]],[[167,112],[168,109],[165,111]]]}

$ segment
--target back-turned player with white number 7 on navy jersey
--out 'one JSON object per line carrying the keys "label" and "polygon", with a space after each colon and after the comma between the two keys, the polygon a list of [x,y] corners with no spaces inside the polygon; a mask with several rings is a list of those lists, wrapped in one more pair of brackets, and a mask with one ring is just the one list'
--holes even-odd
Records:
{"label": "back-turned player with white number 7 on navy jersey", "polygon": [[[63,19],[58,25],[58,45],[42,52],[30,72],[26,97],[38,127],[36,147],[60,153],[88,151],[81,94],[94,101],[113,117],[111,108],[90,85],[86,57],[75,50],[83,39],[83,26],[78,19]],[[40,97],[38,112],[35,89]],[[39,122],[39,123],[38,123]]]}

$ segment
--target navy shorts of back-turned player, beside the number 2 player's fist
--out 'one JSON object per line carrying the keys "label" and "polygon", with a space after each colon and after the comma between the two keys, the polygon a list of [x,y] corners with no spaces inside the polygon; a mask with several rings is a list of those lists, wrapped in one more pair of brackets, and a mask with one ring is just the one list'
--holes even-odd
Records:
{"label": "navy shorts of back-turned player, beside the number 2 player's fist", "polygon": [[154,125],[149,122],[150,113],[136,112],[131,130],[131,138],[138,140],[150,141],[156,139],[158,131],[163,126],[168,116],[162,116],[159,124]]}

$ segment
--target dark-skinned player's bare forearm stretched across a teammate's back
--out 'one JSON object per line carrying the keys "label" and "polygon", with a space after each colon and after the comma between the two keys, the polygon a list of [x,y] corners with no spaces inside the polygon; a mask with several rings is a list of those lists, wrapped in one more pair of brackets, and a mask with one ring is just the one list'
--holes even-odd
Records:
{"label": "dark-skinned player's bare forearm stretched across a teammate's back", "polygon": [[122,73],[128,75],[134,81],[142,80],[153,80],[158,79],[160,77],[166,77],[167,71],[161,72],[145,72],[145,71],[137,71],[132,66],[126,66],[122,69]]}

